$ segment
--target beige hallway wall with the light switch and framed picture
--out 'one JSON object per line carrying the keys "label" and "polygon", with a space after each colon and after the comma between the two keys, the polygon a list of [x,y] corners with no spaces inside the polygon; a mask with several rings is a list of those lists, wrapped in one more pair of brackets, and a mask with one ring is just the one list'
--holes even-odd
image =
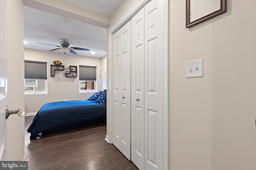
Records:
{"label": "beige hallway wall with the light switch and framed picture", "polygon": [[[170,1],[171,170],[255,170],[256,1],[186,29],[186,1]],[[185,62],[204,60],[204,77]]]}

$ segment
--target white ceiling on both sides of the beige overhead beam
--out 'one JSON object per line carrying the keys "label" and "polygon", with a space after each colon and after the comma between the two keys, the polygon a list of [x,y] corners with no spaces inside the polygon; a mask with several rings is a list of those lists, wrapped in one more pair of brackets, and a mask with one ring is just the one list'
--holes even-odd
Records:
{"label": "white ceiling on both sides of the beige overhead beam", "polygon": [[[66,0],[76,5],[111,16],[124,0]],[[26,4],[25,4],[26,5]],[[62,20],[69,20],[65,24]],[[78,55],[104,57],[107,49],[106,28],[90,25],[81,21],[58,16],[28,6],[24,7],[24,41],[25,48],[49,51],[60,46],[62,39],[67,39],[70,47],[90,49],[90,51],[74,50]],[[45,43],[50,45],[43,45]],[[91,54],[94,51],[95,54]],[[53,52],[61,53],[60,50]],[[71,53],[69,53],[71,54]],[[64,55],[64,54],[63,54]],[[73,55],[73,54],[71,54]]]}

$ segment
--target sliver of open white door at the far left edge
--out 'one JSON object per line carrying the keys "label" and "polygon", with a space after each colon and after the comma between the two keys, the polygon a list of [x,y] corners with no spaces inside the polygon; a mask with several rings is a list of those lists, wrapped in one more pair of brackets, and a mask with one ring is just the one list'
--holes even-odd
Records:
{"label": "sliver of open white door at the far left edge", "polygon": [[5,107],[6,107],[6,56],[5,56],[5,1],[0,1],[0,160],[6,160],[6,119],[5,119]]}

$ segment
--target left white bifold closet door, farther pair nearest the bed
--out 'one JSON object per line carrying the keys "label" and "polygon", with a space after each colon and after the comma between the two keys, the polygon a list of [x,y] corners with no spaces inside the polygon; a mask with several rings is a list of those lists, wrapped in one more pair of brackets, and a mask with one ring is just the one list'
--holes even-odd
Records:
{"label": "left white bifold closet door, farther pair nearest the bed", "polygon": [[113,144],[131,160],[131,21],[113,34]]}

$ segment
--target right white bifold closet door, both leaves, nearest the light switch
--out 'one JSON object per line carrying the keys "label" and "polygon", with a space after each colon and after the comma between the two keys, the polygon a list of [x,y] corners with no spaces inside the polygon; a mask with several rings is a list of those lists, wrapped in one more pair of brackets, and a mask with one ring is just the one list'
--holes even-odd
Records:
{"label": "right white bifold closet door, both leaves, nearest the light switch", "polygon": [[131,154],[140,170],[162,170],[164,139],[163,15],[152,0],[132,18]]}

